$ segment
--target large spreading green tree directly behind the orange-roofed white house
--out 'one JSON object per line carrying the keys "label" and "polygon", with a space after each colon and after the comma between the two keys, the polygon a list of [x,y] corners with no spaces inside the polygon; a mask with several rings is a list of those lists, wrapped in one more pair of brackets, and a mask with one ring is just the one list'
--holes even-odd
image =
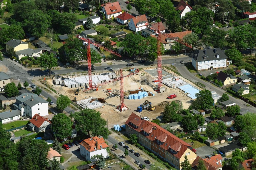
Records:
{"label": "large spreading green tree directly behind the orange-roofed white house", "polygon": [[105,127],[106,120],[101,118],[98,111],[91,109],[84,109],[80,112],[74,113],[74,120],[76,122],[76,129],[83,135],[102,136],[104,139],[108,138],[109,131]]}

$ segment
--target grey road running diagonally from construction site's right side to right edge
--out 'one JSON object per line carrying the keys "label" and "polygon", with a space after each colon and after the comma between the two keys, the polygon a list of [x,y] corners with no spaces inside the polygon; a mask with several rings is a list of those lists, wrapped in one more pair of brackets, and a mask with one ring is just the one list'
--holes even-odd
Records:
{"label": "grey road running diagonally from construction site's right side to right edge", "polygon": [[[219,95],[222,95],[223,93],[226,92],[225,90],[223,90],[221,88],[213,86],[212,83],[210,83],[208,81],[206,82],[206,81],[204,81],[202,79],[197,78],[194,74],[190,73],[188,71],[188,69],[184,65],[182,65],[180,67],[177,67],[177,70],[180,72],[182,77],[186,77],[186,78],[189,78],[189,79],[191,79],[193,81],[198,81],[198,82],[201,82],[201,83],[205,84],[205,86],[206,86],[205,89],[207,89],[207,90],[216,91],[216,93],[218,93]],[[247,107],[246,105],[248,103],[244,102],[243,100],[236,99],[236,98],[234,98],[234,97],[232,97],[230,95],[228,95],[228,96],[229,96],[229,99],[231,101],[236,102],[236,104],[239,105],[241,108],[249,108],[250,112],[254,112],[254,113],[256,112],[256,108],[255,107],[253,107],[253,106],[252,107]]]}

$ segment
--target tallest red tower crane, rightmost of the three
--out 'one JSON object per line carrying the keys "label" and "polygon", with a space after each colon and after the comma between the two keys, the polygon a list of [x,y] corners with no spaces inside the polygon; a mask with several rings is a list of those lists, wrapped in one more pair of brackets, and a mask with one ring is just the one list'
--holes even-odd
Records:
{"label": "tallest red tower crane, rightmost of the three", "polygon": [[160,87],[162,86],[162,43],[161,43],[161,35],[164,35],[170,39],[173,39],[183,45],[186,45],[189,48],[192,48],[191,45],[186,43],[185,41],[173,37],[165,32],[160,31],[160,24],[158,22],[157,30],[152,28],[151,26],[147,26],[149,29],[153,30],[156,33],[156,40],[157,40],[157,80],[158,80],[158,93],[160,92]]}

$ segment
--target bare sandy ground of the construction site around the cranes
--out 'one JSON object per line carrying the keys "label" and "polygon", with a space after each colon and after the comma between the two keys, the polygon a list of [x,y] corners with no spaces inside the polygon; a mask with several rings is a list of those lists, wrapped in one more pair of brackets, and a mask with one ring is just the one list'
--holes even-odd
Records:
{"label": "bare sandy ground of the construction site around the cranes", "polygon": [[[149,69],[149,68],[148,68]],[[168,70],[168,72],[172,73]],[[129,72],[123,71],[123,76],[126,76]],[[173,73],[172,73],[173,74]],[[125,105],[129,108],[128,111],[120,112],[119,110],[116,110],[116,107],[120,104],[120,97],[110,95],[107,96],[105,91],[107,88],[111,88],[112,91],[115,89],[115,93],[119,94],[120,90],[120,82],[117,81],[115,83],[109,83],[105,84],[101,87],[99,87],[98,91],[86,91],[84,92],[84,89],[80,89],[80,93],[78,95],[74,95],[74,91],[76,91],[77,88],[67,88],[63,86],[53,86],[52,88],[57,91],[57,93],[62,95],[67,95],[71,100],[74,99],[74,97],[77,98],[77,100],[87,99],[90,97],[94,98],[104,98],[106,103],[104,107],[97,108],[95,110],[99,111],[102,115],[102,117],[106,120],[108,120],[109,127],[115,125],[115,124],[122,124],[124,123],[127,118],[130,116],[132,112],[136,113],[137,115],[144,117],[147,116],[150,119],[155,119],[157,116],[161,115],[161,112],[163,111],[163,107],[158,106],[159,103],[163,101],[173,101],[173,100],[180,100],[183,103],[184,108],[188,108],[190,105],[191,99],[187,97],[184,92],[178,90],[178,89],[172,89],[166,87],[166,91],[162,93],[156,93],[154,91],[154,88],[157,84],[153,83],[153,80],[155,78],[151,75],[148,75],[143,70],[140,71],[138,74],[129,76],[123,79],[124,81],[124,92],[125,95],[129,94],[127,90],[135,90],[138,88],[143,88],[145,91],[149,91],[155,94],[155,96],[148,96],[144,99],[137,99],[137,100],[128,100],[124,99]],[[47,83],[50,85],[53,85],[52,80],[47,80]],[[178,97],[175,99],[166,99],[168,95],[170,94],[176,94]],[[156,110],[154,111],[142,111],[141,113],[136,112],[136,109],[140,104],[143,104],[145,100],[148,100],[152,103],[152,106],[156,106]]]}

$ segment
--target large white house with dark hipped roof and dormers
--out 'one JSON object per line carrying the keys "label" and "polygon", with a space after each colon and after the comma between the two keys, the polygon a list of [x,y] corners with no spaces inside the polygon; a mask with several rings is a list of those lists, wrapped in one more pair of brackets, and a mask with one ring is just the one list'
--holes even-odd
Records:
{"label": "large white house with dark hipped roof and dormers", "polygon": [[227,68],[228,57],[225,54],[225,50],[220,48],[198,50],[191,57],[192,65],[196,70]]}

